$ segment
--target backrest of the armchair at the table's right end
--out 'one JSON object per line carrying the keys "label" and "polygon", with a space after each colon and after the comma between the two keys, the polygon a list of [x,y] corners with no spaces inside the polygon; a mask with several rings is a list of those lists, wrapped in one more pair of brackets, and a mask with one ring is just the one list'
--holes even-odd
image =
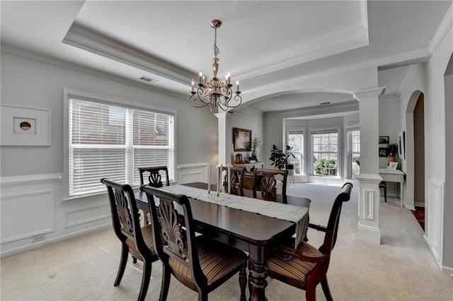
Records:
{"label": "backrest of the armchair at the table's right end", "polygon": [[348,182],[343,184],[343,187],[341,187],[340,190],[340,194],[338,194],[335,201],[333,202],[331,215],[328,218],[326,227],[326,236],[324,236],[323,244],[321,245],[321,247],[319,247],[319,251],[324,254],[330,254],[333,250],[333,247],[335,247],[338,233],[338,223],[340,222],[341,207],[343,206],[343,202],[349,201],[351,191],[351,183]]}

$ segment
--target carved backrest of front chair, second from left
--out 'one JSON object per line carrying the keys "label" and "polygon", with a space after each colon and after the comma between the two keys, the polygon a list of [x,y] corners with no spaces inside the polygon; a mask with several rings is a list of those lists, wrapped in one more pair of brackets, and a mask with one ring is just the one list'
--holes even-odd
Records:
{"label": "carved backrest of front chair, second from left", "polygon": [[[148,185],[144,185],[140,189],[148,197],[156,252],[161,261],[168,264],[170,258],[176,259],[190,269],[195,283],[206,284],[207,278],[202,272],[198,257],[195,224],[188,197]],[[155,198],[159,199],[159,203]],[[178,205],[183,210],[183,223],[180,223]]]}

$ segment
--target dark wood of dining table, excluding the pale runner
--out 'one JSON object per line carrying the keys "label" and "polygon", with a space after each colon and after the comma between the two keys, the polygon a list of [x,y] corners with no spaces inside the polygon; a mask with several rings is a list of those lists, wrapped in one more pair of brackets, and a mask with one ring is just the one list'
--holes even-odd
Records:
{"label": "dark wood of dining table, excluding the pale runner", "polygon": [[[195,182],[185,185],[207,189],[206,183]],[[216,187],[212,186],[212,189],[214,189],[212,193],[216,193]],[[253,197],[253,191],[248,189],[233,190],[231,193]],[[137,192],[135,199],[138,208],[149,211],[148,199],[145,193],[142,191]],[[309,199],[297,196],[268,196],[258,193],[256,194],[256,199],[277,201],[295,206],[310,206]],[[252,262],[249,277],[253,293],[250,300],[267,300],[265,297],[265,287],[267,286],[265,261],[273,247],[288,240],[294,234],[296,224],[287,220],[270,218],[258,213],[229,208],[197,199],[190,199],[190,207],[197,225],[197,232],[248,252]]]}

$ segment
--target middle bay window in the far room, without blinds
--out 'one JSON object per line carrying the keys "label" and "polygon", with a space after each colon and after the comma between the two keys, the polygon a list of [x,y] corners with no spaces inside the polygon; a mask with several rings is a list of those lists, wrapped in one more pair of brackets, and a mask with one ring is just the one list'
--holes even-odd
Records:
{"label": "middle bay window in the far room, without blinds", "polygon": [[311,131],[311,149],[313,150],[313,174],[337,176],[338,129]]}

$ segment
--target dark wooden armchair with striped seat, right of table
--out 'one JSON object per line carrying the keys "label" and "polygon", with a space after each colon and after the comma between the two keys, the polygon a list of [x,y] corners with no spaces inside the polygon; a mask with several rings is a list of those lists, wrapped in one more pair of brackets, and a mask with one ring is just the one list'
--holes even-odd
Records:
{"label": "dark wooden armchair with striped seat, right of table", "polygon": [[[349,201],[351,191],[352,184],[345,183],[333,202],[327,227],[309,223],[309,228],[326,233],[321,247],[316,249],[308,242],[301,242],[295,250],[280,247],[266,263],[270,278],[305,290],[308,301],[316,299],[316,286],[321,283],[326,300],[333,300],[328,288],[326,273],[331,259],[331,251],[337,239],[341,207],[343,202]],[[284,258],[286,254],[292,257]]]}

